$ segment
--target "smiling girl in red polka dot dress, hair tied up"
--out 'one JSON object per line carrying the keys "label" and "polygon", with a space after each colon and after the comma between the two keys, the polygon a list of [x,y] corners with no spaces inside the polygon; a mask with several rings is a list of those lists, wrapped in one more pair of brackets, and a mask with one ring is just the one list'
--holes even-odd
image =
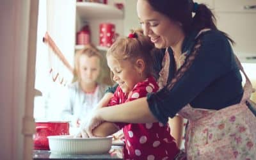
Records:
{"label": "smiling girl in red polka dot dress, hair tied up", "polygon": [[[154,48],[147,36],[140,31],[128,38],[120,38],[106,54],[113,80],[118,84],[109,106],[122,104],[147,93],[157,92],[158,86],[152,76],[151,57]],[[179,148],[170,135],[168,125],[159,122],[148,124],[125,124],[104,122],[93,130],[95,136],[107,136],[123,129],[125,159],[173,159]]]}

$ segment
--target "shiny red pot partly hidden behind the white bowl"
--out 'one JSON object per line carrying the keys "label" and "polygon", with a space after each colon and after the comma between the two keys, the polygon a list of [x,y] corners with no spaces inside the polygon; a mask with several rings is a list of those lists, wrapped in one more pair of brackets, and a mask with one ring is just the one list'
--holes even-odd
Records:
{"label": "shiny red pot partly hidden behind the white bowl", "polygon": [[34,149],[50,150],[47,136],[68,135],[69,123],[58,122],[36,122],[36,133],[33,136]]}

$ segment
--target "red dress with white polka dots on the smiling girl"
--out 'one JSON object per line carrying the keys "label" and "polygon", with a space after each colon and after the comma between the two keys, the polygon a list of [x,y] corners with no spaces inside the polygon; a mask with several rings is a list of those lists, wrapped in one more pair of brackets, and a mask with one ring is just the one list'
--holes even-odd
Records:
{"label": "red dress with white polka dots on the smiling girl", "polygon": [[[158,86],[154,77],[148,77],[145,81],[136,84],[128,97],[128,93],[122,92],[118,86],[109,106],[129,102],[140,97],[146,97],[147,93],[157,92]],[[138,160],[174,159],[179,153],[179,148],[170,135],[170,127],[159,122],[148,124],[116,123],[123,129],[125,138],[124,158]]]}

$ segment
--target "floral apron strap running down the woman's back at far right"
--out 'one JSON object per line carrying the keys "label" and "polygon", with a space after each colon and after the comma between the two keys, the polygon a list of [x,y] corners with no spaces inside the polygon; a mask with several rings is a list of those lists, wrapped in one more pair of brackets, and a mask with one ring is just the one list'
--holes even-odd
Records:
{"label": "floral apron strap running down the woman's back at far right", "polygon": [[250,99],[251,94],[253,92],[255,92],[255,90],[252,88],[252,83],[250,81],[250,79],[248,78],[248,76],[246,75],[246,73],[244,72],[244,68],[241,65],[241,62],[238,60],[236,54],[234,54],[235,59],[236,59],[236,63],[238,65],[238,67],[240,68],[240,70],[243,72],[244,77],[245,77],[245,84],[244,84],[244,93],[243,93],[243,98],[241,99],[240,103],[246,102],[246,100]]}

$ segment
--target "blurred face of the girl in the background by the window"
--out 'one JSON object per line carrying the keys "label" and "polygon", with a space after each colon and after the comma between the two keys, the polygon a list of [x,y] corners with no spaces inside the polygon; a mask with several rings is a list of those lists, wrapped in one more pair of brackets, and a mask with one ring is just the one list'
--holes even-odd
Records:
{"label": "blurred face of the girl in the background by the window", "polygon": [[97,56],[81,55],[79,59],[81,83],[95,83],[100,74],[100,60]]}

